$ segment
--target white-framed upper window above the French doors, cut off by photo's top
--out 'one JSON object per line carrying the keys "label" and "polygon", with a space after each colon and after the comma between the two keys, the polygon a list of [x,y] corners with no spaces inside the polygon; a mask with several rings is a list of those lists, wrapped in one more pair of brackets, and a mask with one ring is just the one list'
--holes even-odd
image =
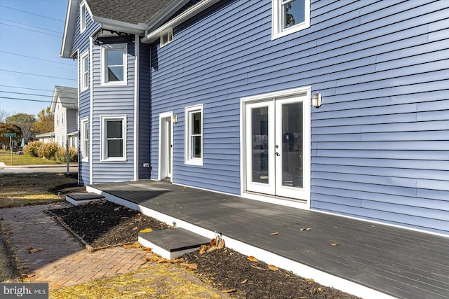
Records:
{"label": "white-framed upper window above the French doors, cut off by photo's top", "polygon": [[272,0],[272,39],[310,27],[310,0]]}

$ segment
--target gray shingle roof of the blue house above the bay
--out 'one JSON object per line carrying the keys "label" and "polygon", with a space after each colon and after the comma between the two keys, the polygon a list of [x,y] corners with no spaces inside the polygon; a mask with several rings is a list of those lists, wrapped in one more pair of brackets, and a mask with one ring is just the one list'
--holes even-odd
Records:
{"label": "gray shingle roof of the blue house above the bay", "polygon": [[87,0],[91,13],[137,25],[145,23],[175,0]]}

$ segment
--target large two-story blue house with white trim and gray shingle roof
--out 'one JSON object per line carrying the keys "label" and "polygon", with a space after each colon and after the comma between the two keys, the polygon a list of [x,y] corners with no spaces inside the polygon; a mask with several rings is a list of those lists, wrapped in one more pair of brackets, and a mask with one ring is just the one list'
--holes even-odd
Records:
{"label": "large two-story blue house with white trim and gray shingle roof", "polygon": [[449,235],[447,1],[69,0],[79,181]]}

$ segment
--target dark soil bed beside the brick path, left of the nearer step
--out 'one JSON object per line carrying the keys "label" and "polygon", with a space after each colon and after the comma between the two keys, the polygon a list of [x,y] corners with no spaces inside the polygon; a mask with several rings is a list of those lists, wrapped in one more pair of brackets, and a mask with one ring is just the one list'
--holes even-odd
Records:
{"label": "dark soil bed beside the brick path, left of the nearer step", "polygon": [[166,223],[106,200],[50,211],[93,249],[136,242],[138,232],[146,228],[170,228]]}

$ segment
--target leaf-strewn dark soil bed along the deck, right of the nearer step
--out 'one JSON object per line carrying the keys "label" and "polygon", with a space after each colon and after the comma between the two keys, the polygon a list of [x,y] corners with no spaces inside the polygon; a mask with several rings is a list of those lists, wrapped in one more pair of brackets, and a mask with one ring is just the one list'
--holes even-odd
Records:
{"label": "leaf-strewn dark soil bed along the deck, right of the nearer step", "polygon": [[[356,298],[321,286],[286,270],[271,270],[266,263],[248,260],[232,249],[187,253],[185,263],[196,263],[196,275],[235,298]],[[276,268],[274,268],[276,269]]]}

